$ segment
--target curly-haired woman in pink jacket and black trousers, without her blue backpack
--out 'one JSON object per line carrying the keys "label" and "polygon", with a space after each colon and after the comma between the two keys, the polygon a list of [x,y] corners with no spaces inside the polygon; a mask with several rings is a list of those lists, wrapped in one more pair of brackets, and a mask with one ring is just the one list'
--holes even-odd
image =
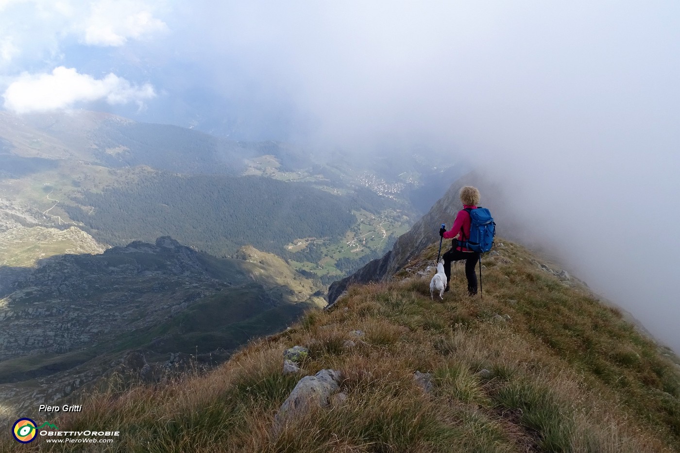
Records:
{"label": "curly-haired woman in pink jacket and black trousers, without her blue backpack", "polygon": [[452,261],[465,260],[465,276],[468,280],[468,295],[474,296],[477,294],[477,273],[475,273],[475,265],[479,261],[479,253],[468,250],[458,244],[458,239],[466,241],[470,238],[470,214],[465,209],[477,209],[479,203],[479,190],[472,186],[465,186],[460,189],[460,201],[463,203],[463,209],[456,214],[454,225],[449,231],[445,228],[439,230],[439,235],[444,239],[454,239],[452,241],[451,250],[443,254],[444,258],[444,273],[446,274],[446,288],[449,290],[449,280],[451,280],[451,263]]}

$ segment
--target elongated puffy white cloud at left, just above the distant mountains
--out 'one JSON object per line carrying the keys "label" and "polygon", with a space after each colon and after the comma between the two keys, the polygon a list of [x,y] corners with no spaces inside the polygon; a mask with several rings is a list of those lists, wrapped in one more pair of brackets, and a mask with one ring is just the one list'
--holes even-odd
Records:
{"label": "elongated puffy white cloud at left, just above the distant mountains", "polygon": [[135,86],[114,73],[97,80],[63,66],[55,68],[52,73],[24,73],[7,87],[3,95],[5,108],[18,114],[49,112],[79,102],[100,100],[112,105],[136,102],[141,106],[143,101],[155,96],[150,84]]}

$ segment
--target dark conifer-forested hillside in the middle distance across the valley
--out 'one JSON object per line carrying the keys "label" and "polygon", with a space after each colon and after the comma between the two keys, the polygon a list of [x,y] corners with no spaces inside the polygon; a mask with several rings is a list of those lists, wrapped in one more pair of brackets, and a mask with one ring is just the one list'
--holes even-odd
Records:
{"label": "dark conifer-forested hillside in the middle distance across the valley", "polygon": [[155,175],[77,201],[90,209],[65,209],[99,241],[124,245],[171,235],[218,256],[245,244],[280,252],[300,237],[337,238],[356,222],[356,199],[270,178]]}

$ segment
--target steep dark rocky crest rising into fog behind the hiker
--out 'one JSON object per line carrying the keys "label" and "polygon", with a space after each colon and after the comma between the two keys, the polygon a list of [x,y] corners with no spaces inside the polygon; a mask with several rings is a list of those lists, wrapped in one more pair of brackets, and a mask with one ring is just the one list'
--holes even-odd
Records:
{"label": "steep dark rocky crest rising into fog behind the hiker", "polygon": [[[415,222],[411,230],[401,235],[394,244],[394,247],[382,258],[373,260],[352,275],[343,280],[333,282],[328,288],[328,303],[332,304],[341,293],[351,284],[365,284],[371,282],[381,282],[388,280],[396,271],[404,267],[411,258],[418,256],[432,241],[437,239],[439,226],[442,223],[451,228],[456,213],[462,209],[458,192],[463,186],[474,185],[481,191],[481,205],[488,207],[494,213],[496,223],[500,210],[496,209],[500,205],[500,191],[489,182],[475,174],[460,178],[449,187],[443,197],[432,206],[430,211],[425,214],[418,222]],[[488,201],[487,201],[488,200]],[[501,216],[502,217],[502,216]],[[501,224],[503,222],[500,222]],[[450,241],[445,241],[450,243]],[[443,244],[442,250],[448,250],[449,244]]]}

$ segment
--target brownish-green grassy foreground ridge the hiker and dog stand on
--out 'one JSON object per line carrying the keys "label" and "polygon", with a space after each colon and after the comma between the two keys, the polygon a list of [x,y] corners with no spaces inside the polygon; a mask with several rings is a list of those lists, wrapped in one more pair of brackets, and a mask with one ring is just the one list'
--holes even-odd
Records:
{"label": "brownish-green grassy foreground ridge the hiker and dog stand on", "polygon": [[[120,431],[96,450],[116,452],[680,450],[677,365],[526,250],[506,243],[499,252],[485,260],[483,301],[466,297],[460,267],[443,302],[430,299],[429,278],[354,286],[329,312],[309,312],[208,375],[103,392],[56,424]],[[496,316],[505,314],[511,320]],[[344,348],[356,329],[363,343]],[[347,399],[275,433],[276,411],[301,377],[282,374],[282,351],[296,344],[311,350],[307,374],[341,371]],[[415,371],[432,373],[430,392]],[[92,451],[42,439],[22,448]]]}

